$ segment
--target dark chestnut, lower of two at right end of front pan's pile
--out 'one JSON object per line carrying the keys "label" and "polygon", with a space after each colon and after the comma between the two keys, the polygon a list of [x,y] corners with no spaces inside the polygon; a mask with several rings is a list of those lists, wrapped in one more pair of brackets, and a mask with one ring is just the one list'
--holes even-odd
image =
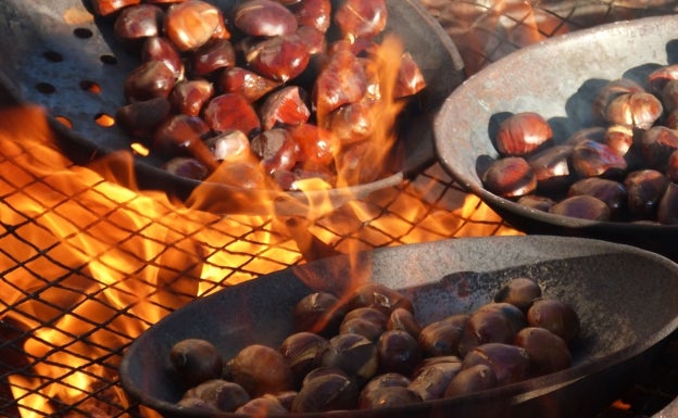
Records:
{"label": "dark chestnut, lower of two at right end of front pan's pile", "polygon": [[516,334],[514,344],[527,352],[532,376],[563,370],[572,364],[572,354],[565,340],[545,328],[527,327],[522,329]]}

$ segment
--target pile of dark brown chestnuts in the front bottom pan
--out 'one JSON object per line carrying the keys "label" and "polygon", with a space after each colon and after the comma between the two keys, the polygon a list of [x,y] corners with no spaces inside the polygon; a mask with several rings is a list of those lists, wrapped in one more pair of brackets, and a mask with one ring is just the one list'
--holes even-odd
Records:
{"label": "pile of dark brown chestnuts in the front bottom pan", "polygon": [[231,358],[201,339],[171,351],[177,406],[252,416],[382,408],[461,396],[563,370],[580,319],[531,278],[507,281],[470,314],[427,325],[413,303],[378,283],[350,297],[302,297],[294,331],[278,346],[251,344]]}

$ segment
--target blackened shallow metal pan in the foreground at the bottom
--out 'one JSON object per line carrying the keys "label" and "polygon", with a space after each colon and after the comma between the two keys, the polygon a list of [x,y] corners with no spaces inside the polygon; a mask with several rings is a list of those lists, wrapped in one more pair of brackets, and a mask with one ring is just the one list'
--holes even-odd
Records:
{"label": "blackened shallow metal pan in the foreground at the bottom", "polygon": [[226,358],[252,343],[275,347],[292,332],[292,311],[303,295],[318,290],[341,295],[365,281],[404,292],[416,318],[427,324],[472,312],[508,279],[527,276],[581,318],[572,368],[469,396],[324,416],[583,418],[618,398],[678,326],[678,265],[633,246],[569,237],[488,237],[380,249],[354,262],[324,258],[186,305],[124,353],[124,389],[165,417],[198,417],[174,406],[186,388],[172,372],[170,350],[181,339],[212,341]]}

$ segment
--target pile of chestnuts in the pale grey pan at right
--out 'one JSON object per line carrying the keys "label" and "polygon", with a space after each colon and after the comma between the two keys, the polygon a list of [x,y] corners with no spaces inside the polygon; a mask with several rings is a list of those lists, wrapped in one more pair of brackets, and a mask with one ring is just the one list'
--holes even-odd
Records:
{"label": "pile of chestnuts in the pale grey pan at right", "polygon": [[537,112],[500,123],[488,191],[552,214],[604,221],[678,224],[678,65],[641,85],[608,81],[592,104],[597,124],[554,138]]}

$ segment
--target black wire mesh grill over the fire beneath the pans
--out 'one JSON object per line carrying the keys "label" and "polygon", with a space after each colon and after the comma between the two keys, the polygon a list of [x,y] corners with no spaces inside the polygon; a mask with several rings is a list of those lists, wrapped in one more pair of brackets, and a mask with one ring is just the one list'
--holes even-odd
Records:
{"label": "black wire mesh grill over the fire beneath the pans", "polygon": [[[423,3],[460,48],[469,74],[550,36],[676,8],[658,1]],[[160,318],[227,286],[336,253],[519,233],[439,165],[317,219],[218,216],[77,166],[52,139],[41,110],[2,111],[0,415],[7,417],[154,416],[122,392],[122,353]],[[664,357],[678,368],[675,343]],[[651,370],[629,394],[633,408],[606,416],[660,408],[678,392],[675,369]]]}

